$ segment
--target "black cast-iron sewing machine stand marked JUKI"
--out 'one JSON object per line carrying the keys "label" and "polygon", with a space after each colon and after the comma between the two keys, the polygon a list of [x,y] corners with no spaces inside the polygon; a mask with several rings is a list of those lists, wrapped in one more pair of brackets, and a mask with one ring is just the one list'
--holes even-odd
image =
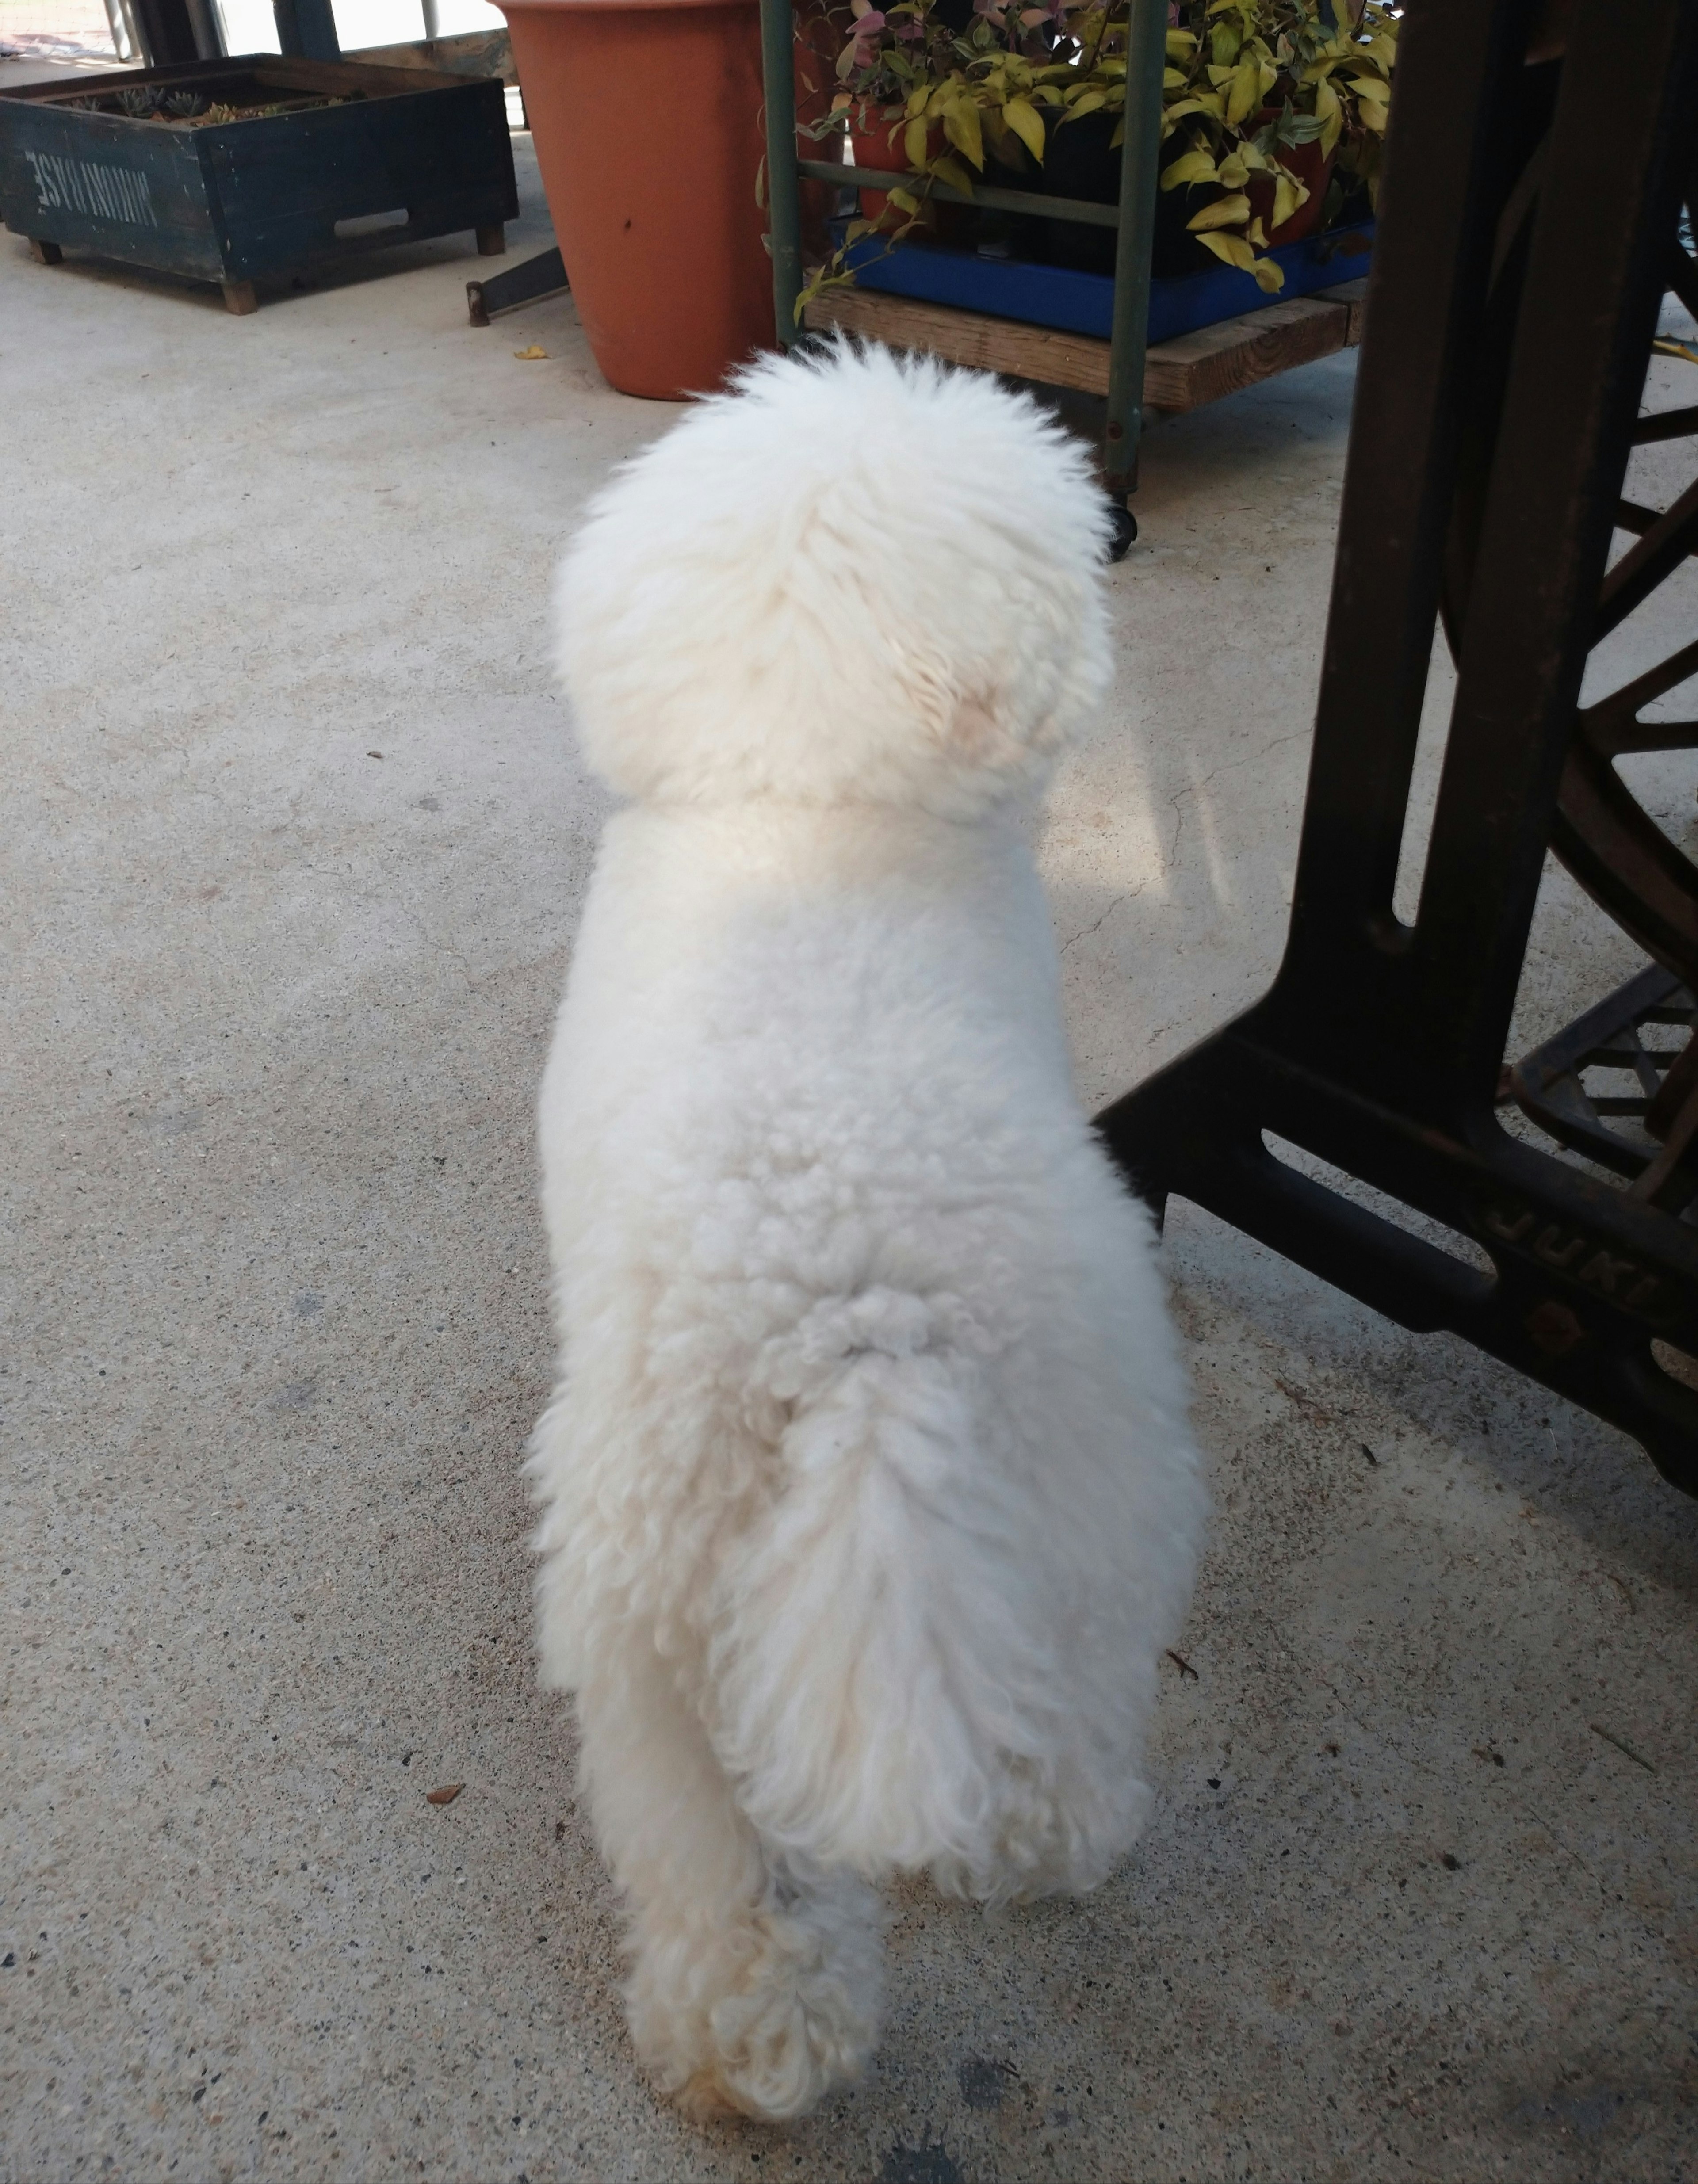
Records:
{"label": "black cast-iron sewing machine stand marked JUKI", "polygon": [[[1672,1210],[1698,1190],[1694,1070],[1648,1061],[1643,1127],[1663,1142],[1602,1162],[1624,1182],[1591,1164],[1595,1144],[1587,1164],[1558,1149],[1602,1114],[1558,1064],[1578,1077],[1597,1044],[1619,1068],[1628,1022],[1670,996],[1652,978],[1510,1072],[1549,1147],[1497,1107],[1545,854],[1567,854],[1565,764],[1591,729],[1635,747],[1626,697],[1654,695],[1630,686],[1608,736],[1578,703],[1648,566],[1606,574],[1691,164],[1698,0],[1643,7],[1632,52],[1615,0],[1578,0],[1560,83],[1528,66],[1530,13],[1423,0],[1405,20],[1285,961],[1263,1002],[1099,1129],[1152,1201],[1178,1192],[1407,1328],[1464,1334],[1698,1492],[1681,1363],[1698,1356],[1698,1227]],[[1681,518],[1661,522],[1670,561]],[[1440,592],[1458,690],[1405,926],[1392,889]],[[1674,727],[1698,740],[1698,723]],[[1276,1140],[1438,1227],[1316,1182]]]}

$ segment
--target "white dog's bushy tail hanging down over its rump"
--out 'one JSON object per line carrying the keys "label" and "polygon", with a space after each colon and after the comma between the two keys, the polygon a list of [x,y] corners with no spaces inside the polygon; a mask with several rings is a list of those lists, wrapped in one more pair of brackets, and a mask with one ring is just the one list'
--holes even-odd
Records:
{"label": "white dog's bushy tail hanging down over its rump", "polygon": [[767,1839],[1005,1898],[1090,1887],[1136,1835],[1143,1677],[1090,1599],[1115,1572],[1001,1417],[951,1345],[852,1352],[798,1406],[712,1649],[715,1741]]}

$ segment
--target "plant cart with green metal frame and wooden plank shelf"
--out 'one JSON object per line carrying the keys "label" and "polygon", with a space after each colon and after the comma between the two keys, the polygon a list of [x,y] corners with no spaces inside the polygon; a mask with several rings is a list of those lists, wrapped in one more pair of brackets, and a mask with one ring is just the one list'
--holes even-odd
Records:
{"label": "plant cart with green metal frame and wooden plank shelf", "polygon": [[913,177],[865,166],[844,168],[826,159],[798,159],[791,0],[760,0],[760,28],[767,79],[767,175],[771,177],[771,275],[778,341],[791,347],[809,332],[844,328],[889,347],[931,349],[955,365],[1101,395],[1108,411],[1101,443],[1104,487],[1117,511],[1115,559],[1139,535],[1125,500],[1139,483],[1139,439],[1145,413],[1198,408],[1241,387],[1292,371],[1296,365],[1353,347],[1361,339],[1361,304],[1368,284],[1366,280],[1346,280],[1318,295],[1267,304],[1243,317],[1224,319],[1176,341],[1147,347],[1167,0],[1130,0],[1125,149],[1117,205],[988,186],[975,186],[970,199],[946,183],[931,188],[933,197],[957,205],[972,203],[992,212],[1031,212],[1049,221],[1112,227],[1115,301],[1108,341],[1053,332],[1045,325],[962,310],[951,304],[881,295],[870,288],[828,288],[798,323],[795,301],[804,284],[800,181],[900,188]]}

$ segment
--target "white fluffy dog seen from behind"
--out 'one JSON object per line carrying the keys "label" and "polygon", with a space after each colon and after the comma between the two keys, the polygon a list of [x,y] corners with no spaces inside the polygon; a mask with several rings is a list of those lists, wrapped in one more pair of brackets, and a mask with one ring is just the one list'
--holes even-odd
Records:
{"label": "white fluffy dog seen from behind", "polygon": [[542,1088],[542,1664],[697,2116],[861,2068],[881,1878],[1088,1889],[1145,1811],[1202,1487],[1027,847],[1104,531],[1036,404],[839,347],[693,408],[562,570],[627,804]]}

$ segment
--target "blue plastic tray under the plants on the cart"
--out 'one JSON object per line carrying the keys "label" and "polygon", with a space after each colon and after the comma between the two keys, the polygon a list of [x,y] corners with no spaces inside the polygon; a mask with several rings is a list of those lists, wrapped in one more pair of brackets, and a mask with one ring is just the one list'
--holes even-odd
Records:
{"label": "blue plastic tray under the plants on the cart", "polygon": [[[1267,256],[1285,269],[1278,295],[1265,295],[1237,266],[1187,273],[1182,280],[1149,284],[1149,343],[1193,334],[1200,325],[1237,319],[1248,310],[1285,304],[1316,288],[1337,288],[1368,271],[1375,223],[1333,227],[1305,242],[1287,242]],[[1066,334],[1097,334],[1108,341],[1115,310],[1115,282],[1106,273],[1071,273],[1064,266],[1029,266],[1014,258],[975,258],[968,251],[942,251],[931,245],[889,249],[879,236],[865,236],[848,253],[861,288],[885,295],[911,295],[927,304],[955,304],[959,310],[986,310],[997,319],[1025,319],[1027,325],[1053,325]]]}

